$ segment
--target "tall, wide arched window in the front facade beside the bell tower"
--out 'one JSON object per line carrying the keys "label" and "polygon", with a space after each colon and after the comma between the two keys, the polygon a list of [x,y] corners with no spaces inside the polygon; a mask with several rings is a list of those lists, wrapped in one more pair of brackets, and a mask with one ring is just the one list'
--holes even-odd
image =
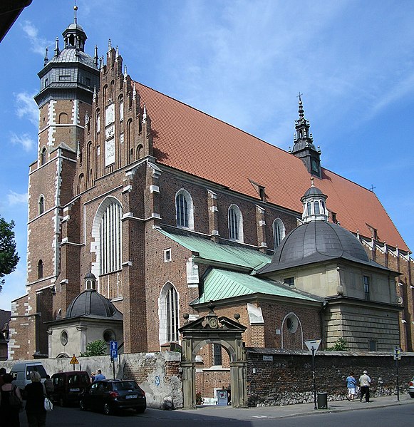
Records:
{"label": "tall, wide arched window in the front facade beside the bell tower", "polygon": [[106,207],[100,220],[100,274],[120,270],[121,267],[121,217],[122,208],[118,202]]}

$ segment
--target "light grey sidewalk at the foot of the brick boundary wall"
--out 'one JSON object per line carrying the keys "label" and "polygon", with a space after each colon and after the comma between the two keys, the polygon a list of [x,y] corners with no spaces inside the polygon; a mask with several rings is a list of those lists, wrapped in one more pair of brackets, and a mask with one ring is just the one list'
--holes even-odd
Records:
{"label": "light grey sidewalk at the foot of the brick boundary wall", "polygon": [[286,406],[261,406],[259,408],[236,409],[230,406],[200,406],[196,410],[179,409],[184,413],[194,413],[197,415],[209,415],[223,418],[232,418],[236,420],[249,420],[252,418],[286,418],[291,416],[317,415],[326,412],[354,411],[366,408],[384,408],[386,406],[409,405],[414,404],[414,398],[410,398],[407,393],[400,394],[400,401],[397,396],[385,396],[371,398],[369,403],[347,400],[328,401],[327,409],[315,409],[314,403],[299,403]]}

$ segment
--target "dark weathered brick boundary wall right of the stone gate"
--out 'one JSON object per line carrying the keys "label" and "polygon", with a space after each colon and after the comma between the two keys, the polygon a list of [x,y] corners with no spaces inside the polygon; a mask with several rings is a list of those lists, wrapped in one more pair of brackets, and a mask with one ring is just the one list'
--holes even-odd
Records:
{"label": "dark weathered brick boundary wall right of the stone gate", "polygon": [[[398,361],[400,393],[405,393],[408,381],[414,376],[414,353],[402,353],[401,356]],[[353,371],[358,381],[364,369],[373,379],[372,396],[397,394],[393,354],[351,351],[316,353],[316,393],[328,393],[328,401],[343,400],[347,393],[346,377]],[[247,348],[247,394],[249,406],[313,402],[311,354],[309,351]]]}

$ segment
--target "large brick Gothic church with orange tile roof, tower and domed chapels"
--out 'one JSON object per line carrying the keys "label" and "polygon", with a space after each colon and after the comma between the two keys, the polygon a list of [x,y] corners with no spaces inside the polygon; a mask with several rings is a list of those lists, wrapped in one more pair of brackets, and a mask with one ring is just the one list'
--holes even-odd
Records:
{"label": "large brick Gothic church with orange tile roof, tower and domed chapels", "polygon": [[[410,249],[374,192],[321,164],[300,96],[286,152],[133,80],[111,43],[90,56],[86,40],[75,14],[38,73],[9,359],[71,357],[95,339],[172,349],[209,304],[237,314],[247,347],[413,351]],[[222,356],[213,344],[200,361]]]}

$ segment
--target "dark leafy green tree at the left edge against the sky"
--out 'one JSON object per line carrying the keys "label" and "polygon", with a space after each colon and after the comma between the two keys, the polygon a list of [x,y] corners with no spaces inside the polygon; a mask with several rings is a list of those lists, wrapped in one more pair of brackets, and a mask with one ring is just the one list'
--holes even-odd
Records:
{"label": "dark leafy green tree at the left edge against the sky", "polygon": [[14,272],[19,262],[14,241],[14,221],[7,222],[0,217],[0,292],[4,285],[3,277]]}

